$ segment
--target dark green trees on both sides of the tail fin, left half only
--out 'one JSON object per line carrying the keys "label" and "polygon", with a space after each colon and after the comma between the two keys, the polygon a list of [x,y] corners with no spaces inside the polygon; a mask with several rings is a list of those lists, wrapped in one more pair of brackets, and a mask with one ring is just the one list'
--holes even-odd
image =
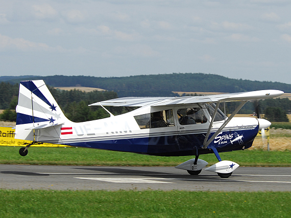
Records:
{"label": "dark green trees on both sides of the tail fin, left half only", "polygon": [[[88,104],[117,98],[116,92],[82,92],[80,90],[57,90],[51,86],[48,89],[62,108],[65,116],[74,122],[83,122],[109,117],[109,114],[100,106]],[[3,121],[16,121],[15,108],[18,103],[19,84],[2,82],[0,84],[0,109],[4,112],[0,115]],[[112,114],[124,113],[124,108],[109,108]]]}

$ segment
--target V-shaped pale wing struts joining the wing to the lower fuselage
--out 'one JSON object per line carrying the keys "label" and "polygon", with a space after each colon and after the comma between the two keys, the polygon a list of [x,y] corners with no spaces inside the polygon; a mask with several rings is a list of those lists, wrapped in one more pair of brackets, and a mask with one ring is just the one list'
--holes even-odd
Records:
{"label": "V-shaped pale wing struts joining the wing to the lower fuselage", "polygon": [[207,148],[207,146],[213,141],[213,139],[217,135],[220,134],[221,130],[229,123],[229,121],[234,117],[234,115],[237,114],[237,112],[240,110],[240,108],[245,105],[245,103],[247,103],[247,101],[241,101],[241,103],[239,104],[239,106],[236,107],[236,109],[234,110],[234,112],[232,112],[232,114],[230,115],[230,117],[222,124],[222,126],[219,129],[217,129],[217,131],[213,134],[213,136],[208,140],[208,137],[209,137],[209,134],[210,134],[210,130],[212,128],[212,124],[213,124],[213,121],[214,121],[214,117],[215,117],[216,112],[218,110],[219,102],[216,104],[216,107],[215,107],[214,113],[212,115],[211,122],[210,122],[210,125],[208,127],[207,134],[206,134],[205,140],[203,142],[203,147],[202,148],[204,148],[204,149]]}

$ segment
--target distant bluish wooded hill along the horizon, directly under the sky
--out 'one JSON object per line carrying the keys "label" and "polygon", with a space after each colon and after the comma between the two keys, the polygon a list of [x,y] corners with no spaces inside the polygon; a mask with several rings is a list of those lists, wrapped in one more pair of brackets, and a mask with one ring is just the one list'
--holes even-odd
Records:
{"label": "distant bluish wooded hill along the horizon, directly under the sky", "polygon": [[[173,73],[139,75],[129,77],[91,76],[39,76],[26,79],[43,79],[46,84],[59,86],[85,86],[115,91],[118,97],[125,96],[175,96],[173,92],[246,92],[265,89],[291,93],[291,84],[269,81],[230,79],[224,76],[202,73]],[[9,82],[19,82],[13,78]]]}

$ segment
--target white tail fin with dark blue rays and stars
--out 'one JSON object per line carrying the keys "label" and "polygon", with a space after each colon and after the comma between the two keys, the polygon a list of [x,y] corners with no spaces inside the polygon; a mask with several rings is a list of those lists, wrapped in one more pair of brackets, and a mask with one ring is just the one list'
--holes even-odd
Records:
{"label": "white tail fin with dark blue rays and stars", "polygon": [[60,138],[56,126],[70,122],[43,80],[20,82],[16,113],[16,139],[55,141]]}

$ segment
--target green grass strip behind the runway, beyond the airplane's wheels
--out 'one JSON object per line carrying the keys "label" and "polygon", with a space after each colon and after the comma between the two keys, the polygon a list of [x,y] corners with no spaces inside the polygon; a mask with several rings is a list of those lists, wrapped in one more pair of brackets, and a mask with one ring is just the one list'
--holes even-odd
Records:
{"label": "green grass strip behind the runway, beyond the airplane's wheels", "polygon": [[[19,148],[0,146],[0,164],[177,166],[193,158],[157,157],[81,147],[30,147],[28,155],[22,157],[18,153]],[[240,166],[291,166],[291,150],[239,150],[223,152],[220,156],[222,160],[234,161]],[[200,159],[207,161],[209,165],[217,162],[214,154],[201,155]]]}

